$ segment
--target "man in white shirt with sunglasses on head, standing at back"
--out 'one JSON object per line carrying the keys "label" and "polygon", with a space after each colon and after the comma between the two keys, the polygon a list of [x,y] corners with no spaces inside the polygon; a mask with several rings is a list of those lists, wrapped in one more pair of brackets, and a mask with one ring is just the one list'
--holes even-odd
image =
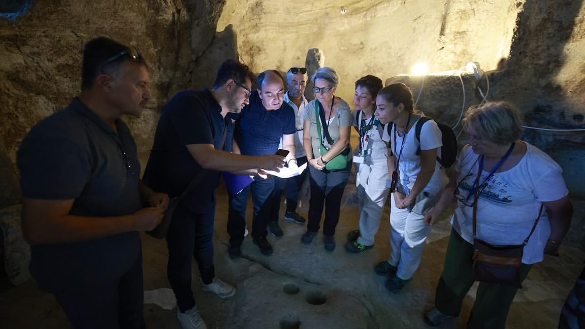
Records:
{"label": "man in white shirt with sunglasses on head, standing at back", "polygon": [[[294,146],[297,150],[295,157],[297,166],[302,166],[307,163],[307,155],[305,155],[305,149],[302,147],[302,114],[305,112],[305,106],[308,103],[304,95],[305,87],[307,86],[307,68],[298,66],[291,67],[287,71],[286,79],[288,91],[284,94],[284,102],[292,107],[295,114]],[[279,148],[283,148],[282,141]],[[275,237],[281,237],[284,234],[280,225],[278,225],[280,199],[283,195],[283,190],[286,191],[287,200],[287,210],[284,213],[284,219],[297,224],[305,224],[305,218],[297,214],[297,205],[298,193],[301,190],[302,183],[305,181],[305,177],[307,177],[307,172],[308,170],[305,170],[299,176],[294,176],[290,179],[274,177],[274,190],[271,197],[268,228]]]}

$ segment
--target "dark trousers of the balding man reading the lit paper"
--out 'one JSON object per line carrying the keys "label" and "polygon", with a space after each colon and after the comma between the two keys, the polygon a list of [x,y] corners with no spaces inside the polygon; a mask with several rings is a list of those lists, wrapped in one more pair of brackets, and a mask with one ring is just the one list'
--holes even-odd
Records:
{"label": "dark trousers of the balding man reading the lit paper", "polygon": [[244,241],[246,231],[246,203],[248,193],[252,191],[252,238],[266,239],[270,214],[270,195],[274,188],[274,179],[254,177],[254,181],[235,196],[229,196],[228,234],[229,245],[238,247]]}

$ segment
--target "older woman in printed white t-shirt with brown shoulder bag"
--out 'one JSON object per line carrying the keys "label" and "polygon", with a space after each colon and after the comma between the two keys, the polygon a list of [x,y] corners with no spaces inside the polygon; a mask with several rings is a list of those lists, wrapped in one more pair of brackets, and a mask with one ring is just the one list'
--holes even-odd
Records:
{"label": "older woman in printed white t-shirt with brown shoulder bag", "polygon": [[[441,200],[425,217],[431,225],[456,197],[435,308],[424,317],[429,325],[459,316],[476,275],[474,239],[503,246],[522,245],[528,237],[518,268],[521,283],[543,253],[557,254],[572,214],[562,170],[546,153],[519,140],[522,122],[511,105],[488,102],[470,108],[463,127],[469,144],[450,171]],[[515,286],[480,282],[467,328],[504,328],[516,292]]]}

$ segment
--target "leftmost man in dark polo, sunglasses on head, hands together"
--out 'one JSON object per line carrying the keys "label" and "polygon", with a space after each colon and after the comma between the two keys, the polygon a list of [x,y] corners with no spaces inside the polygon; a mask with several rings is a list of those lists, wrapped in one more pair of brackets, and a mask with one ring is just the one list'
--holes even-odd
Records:
{"label": "leftmost man in dark polo, sunglasses on head, hands together", "polygon": [[168,196],[140,181],[136,144],[119,118],[142,112],[148,83],[139,54],[91,40],[80,96],[35,125],[18,151],[30,272],[75,328],[145,327],[138,231],[159,224]]}

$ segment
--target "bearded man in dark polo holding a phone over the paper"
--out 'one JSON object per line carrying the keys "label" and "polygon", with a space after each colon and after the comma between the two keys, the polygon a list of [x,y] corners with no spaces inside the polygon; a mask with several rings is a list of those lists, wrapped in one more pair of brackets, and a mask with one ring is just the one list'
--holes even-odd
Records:
{"label": "bearded man in dark polo holding a phone over the paper", "polygon": [[231,115],[248,104],[253,74],[248,67],[226,60],[219,67],[211,90],[183,90],[165,105],[154,135],[144,181],[171,197],[183,194],[167,231],[168,281],[177,298],[177,318],[183,328],[206,328],[191,290],[194,257],[202,289],[219,297],[236,290],[215,278],[215,187],[221,171],[257,174],[257,169],[278,170],[282,156],[243,156],[232,150]]}

